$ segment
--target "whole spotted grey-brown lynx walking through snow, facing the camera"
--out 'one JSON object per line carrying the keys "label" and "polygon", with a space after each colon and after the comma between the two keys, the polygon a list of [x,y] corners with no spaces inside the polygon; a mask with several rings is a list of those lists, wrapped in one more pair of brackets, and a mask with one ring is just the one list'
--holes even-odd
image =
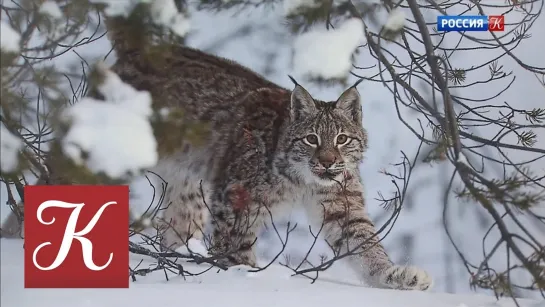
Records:
{"label": "whole spotted grey-brown lynx walking through snow, facing the camera", "polygon": [[[373,236],[358,165],[367,149],[357,84],[336,101],[321,101],[295,80],[292,90],[232,61],[173,46],[149,65],[139,50],[118,51],[113,70],[156,103],[208,123],[201,141],[160,153],[153,170],[168,182],[163,245],[203,239],[227,265],[256,265],[262,225],[292,206],[304,206],[324,225],[327,242],[348,257],[374,287],[427,290],[431,277],[392,263]],[[161,139],[158,139],[161,142]],[[202,192],[202,193],[201,193]]]}

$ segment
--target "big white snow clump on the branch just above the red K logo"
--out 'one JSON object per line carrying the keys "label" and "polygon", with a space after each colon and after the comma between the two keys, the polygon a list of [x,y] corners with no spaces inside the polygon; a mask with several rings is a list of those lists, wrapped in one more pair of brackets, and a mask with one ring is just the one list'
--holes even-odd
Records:
{"label": "big white snow clump on the branch just above the red K logo", "polygon": [[157,144],[149,117],[151,95],[137,91],[102,68],[98,90],[106,101],[84,98],[63,112],[71,127],[62,140],[64,153],[78,164],[111,178],[123,178],[157,163]]}

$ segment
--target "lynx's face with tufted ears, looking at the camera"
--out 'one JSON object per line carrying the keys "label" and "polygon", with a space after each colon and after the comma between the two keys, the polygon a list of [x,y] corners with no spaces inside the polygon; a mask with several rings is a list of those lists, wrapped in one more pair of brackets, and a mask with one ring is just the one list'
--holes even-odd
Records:
{"label": "lynx's face with tufted ears, looking at the camera", "polygon": [[361,123],[360,96],[355,87],[337,101],[314,100],[297,85],[291,97],[291,129],[287,156],[306,183],[332,185],[346,169],[357,168],[367,147]]}

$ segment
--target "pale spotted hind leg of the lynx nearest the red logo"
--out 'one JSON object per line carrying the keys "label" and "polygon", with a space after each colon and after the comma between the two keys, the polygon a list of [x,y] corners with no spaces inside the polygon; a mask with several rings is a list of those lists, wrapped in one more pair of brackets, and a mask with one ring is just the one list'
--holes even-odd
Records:
{"label": "pale spotted hind leg of the lynx nearest the red logo", "polygon": [[200,188],[188,182],[169,185],[160,218],[161,245],[175,250],[191,238],[203,241],[209,210]]}

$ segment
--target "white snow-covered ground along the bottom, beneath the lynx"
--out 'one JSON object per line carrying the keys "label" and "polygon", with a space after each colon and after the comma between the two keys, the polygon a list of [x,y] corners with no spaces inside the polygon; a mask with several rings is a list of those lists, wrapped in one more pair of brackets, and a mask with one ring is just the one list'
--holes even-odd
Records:
{"label": "white snow-covered ground along the bottom, beneath the lynx", "polygon": [[[349,280],[309,279],[291,276],[291,271],[272,265],[265,271],[249,272],[246,266],[227,271],[209,270],[198,276],[175,276],[157,271],[137,276],[129,289],[24,289],[23,241],[0,239],[1,297],[3,307],[117,307],[117,306],[236,306],[236,307],[514,307],[510,299],[483,295],[452,295],[417,291],[371,289]],[[131,266],[152,260],[131,255]],[[209,265],[183,263],[193,273]],[[536,301],[519,300],[521,307],[543,307]]]}

